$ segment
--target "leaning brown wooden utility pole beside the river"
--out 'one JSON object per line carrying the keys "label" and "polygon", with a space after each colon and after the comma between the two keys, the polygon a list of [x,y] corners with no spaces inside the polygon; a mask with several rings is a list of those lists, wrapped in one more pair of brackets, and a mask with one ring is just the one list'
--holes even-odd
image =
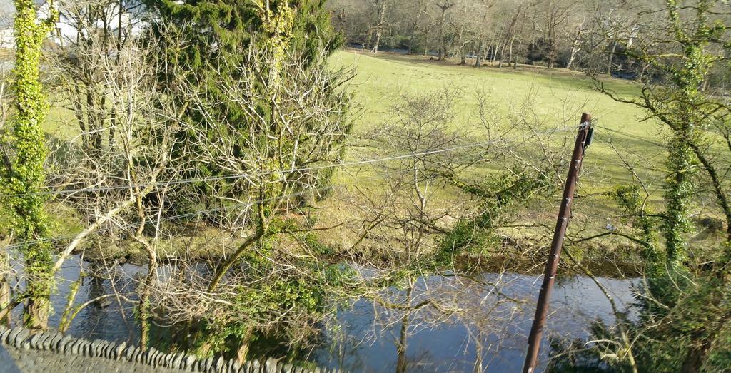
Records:
{"label": "leaning brown wooden utility pole beside the river", "polygon": [[591,114],[584,113],[581,115],[581,125],[579,127],[579,133],[576,136],[574,154],[571,157],[569,176],[564,186],[564,198],[561,199],[561,208],[558,210],[556,230],[553,231],[553,242],[550,245],[550,254],[548,255],[548,261],[546,262],[546,268],[543,274],[543,285],[541,285],[541,292],[538,296],[536,315],[533,319],[533,326],[531,326],[531,334],[528,337],[528,353],[526,353],[526,363],[523,365],[523,373],[533,373],[536,369],[538,351],[541,345],[541,338],[543,337],[543,326],[545,326],[545,319],[548,314],[550,292],[553,290],[553,282],[556,281],[558,258],[561,256],[564,235],[566,234],[566,228],[569,226],[569,219],[571,218],[571,202],[574,199],[576,180],[581,170],[584,150],[591,143],[592,132]]}

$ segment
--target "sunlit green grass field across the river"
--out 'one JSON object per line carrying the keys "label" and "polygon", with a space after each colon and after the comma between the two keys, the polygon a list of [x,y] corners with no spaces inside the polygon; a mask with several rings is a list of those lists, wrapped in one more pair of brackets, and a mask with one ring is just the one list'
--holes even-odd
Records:
{"label": "sunlit green grass field across the river", "polygon": [[[390,53],[371,55],[354,50],[341,50],[333,55],[333,69],[354,69],[355,78],[349,86],[354,93],[356,107],[354,136],[346,153],[346,161],[355,161],[364,157],[382,158],[390,154],[387,150],[368,148],[360,145],[359,135],[393,121],[393,106],[403,100],[404,95],[418,95],[430,91],[442,91],[444,88],[458,90],[455,101],[455,128],[469,135],[471,142],[485,141],[485,130],[478,115],[477,93],[488,96],[488,102],[496,107],[502,117],[515,115],[518,108],[526,100],[531,101],[533,116],[527,121],[539,122],[541,128],[550,129],[579,124],[582,112],[591,112],[599,126],[611,128],[616,132],[596,128],[594,145],[588,150],[584,162],[584,172],[580,180],[578,193],[582,195],[599,194],[609,191],[616,185],[632,182],[632,173],[628,172],[618,157],[618,151],[630,159],[651,157],[650,162],[640,162],[635,172],[645,180],[659,180],[662,177],[664,150],[652,141],[659,139],[660,127],[651,121],[640,122],[643,111],[630,104],[621,104],[610,97],[597,92],[591,79],[577,72],[565,70],[542,69],[531,66],[519,66],[518,69],[496,69],[483,66],[475,69],[471,66],[458,66],[454,61],[436,62],[423,56],[405,56]],[[637,88],[632,82],[608,78],[605,84],[612,91],[624,97],[632,97]],[[51,109],[47,132],[61,142],[69,141],[78,134],[73,115],[63,105],[55,103]],[[506,123],[496,123],[504,126]],[[513,132],[511,136],[520,135]],[[570,152],[575,130],[556,136],[554,142],[569,139],[565,152]],[[610,142],[609,139],[613,138]],[[649,140],[649,141],[647,141]],[[557,144],[554,144],[557,145]],[[530,153],[530,150],[529,150]],[[528,154],[531,155],[531,154]],[[488,166],[489,168],[489,166]],[[564,177],[565,170],[562,170]],[[357,215],[354,205],[344,202],[352,193],[350,186],[358,185],[378,191],[384,181],[377,169],[365,167],[354,177],[352,170],[343,169],[336,173],[336,185],[340,188],[334,198],[326,199],[319,206],[322,223],[340,223]],[[654,189],[653,189],[654,188]],[[662,182],[651,185],[654,204],[662,204]],[[350,189],[350,192],[348,191]],[[442,191],[439,196],[445,196]],[[352,196],[352,195],[351,195]],[[444,201],[456,196],[446,196]],[[444,203],[444,202],[442,202]],[[612,203],[601,196],[586,199],[583,203],[577,200],[575,217],[587,215],[587,220],[594,223],[588,231],[601,230],[604,216],[616,216],[618,211]],[[555,218],[556,211],[548,207],[543,211],[529,214],[534,221],[550,221]],[[591,216],[588,216],[591,215]],[[599,221],[601,220],[601,221]],[[69,225],[70,226],[70,225]],[[535,237],[538,232],[520,231],[516,236]],[[333,231],[327,234],[333,243],[343,242],[346,245],[346,233]],[[328,239],[328,240],[330,240]]]}

